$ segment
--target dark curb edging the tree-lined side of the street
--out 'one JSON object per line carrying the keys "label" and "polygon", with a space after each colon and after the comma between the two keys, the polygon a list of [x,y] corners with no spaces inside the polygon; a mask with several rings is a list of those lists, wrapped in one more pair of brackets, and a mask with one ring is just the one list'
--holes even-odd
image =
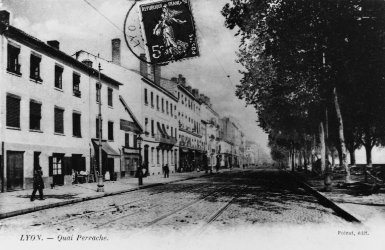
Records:
{"label": "dark curb edging the tree-lined side of the street", "polygon": [[287,170],[282,170],[284,172],[286,172],[287,174],[289,174],[290,176],[292,176],[294,178],[294,180],[298,181],[308,192],[310,192],[311,194],[313,194],[315,197],[318,198],[318,200],[321,202],[322,205],[325,205],[327,207],[330,207],[331,209],[334,210],[334,212],[336,212],[336,214],[338,214],[339,216],[341,216],[342,218],[344,218],[345,220],[349,221],[349,222],[354,222],[354,223],[362,223],[360,220],[358,220],[356,217],[354,217],[353,215],[351,215],[350,213],[348,213],[346,210],[342,209],[340,206],[338,206],[337,204],[335,204],[333,201],[329,200],[328,198],[326,198],[323,194],[321,194],[320,192],[318,192],[318,190],[316,190],[315,188],[313,187],[310,187],[307,183],[303,182],[302,180],[300,180],[297,176],[295,176],[293,173],[290,173],[289,171]]}

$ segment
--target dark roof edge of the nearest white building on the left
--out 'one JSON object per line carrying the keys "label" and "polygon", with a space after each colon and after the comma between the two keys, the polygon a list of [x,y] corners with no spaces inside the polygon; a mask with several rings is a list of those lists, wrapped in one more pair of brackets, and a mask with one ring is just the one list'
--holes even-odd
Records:
{"label": "dark roof edge of the nearest white building on the left", "polygon": [[[51,47],[50,45],[46,44],[45,42],[25,33],[22,30],[19,30],[18,28],[15,28],[11,25],[7,25],[4,22],[0,22],[0,26],[2,28],[5,28],[4,34],[7,37],[13,38],[15,40],[21,39],[21,43],[27,44],[28,46],[34,47],[34,49],[41,50],[41,52],[44,52],[46,54],[49,54],[50,56],[53,57],[58,57],[66,62],[68,62],[70,65],[79,68],[80,70],[83,70],[84,72],[90,74],[91,76],[98,78],[99,77],[99,72],[96,69],[93,69],[84,63],[76,60],[72,56],[55,49]],[[116,81],[115,79],[105,75],[105,74],[100,74],[100,77],[103,81],[115,84],[115,85],[123,85],[122,83]]]}

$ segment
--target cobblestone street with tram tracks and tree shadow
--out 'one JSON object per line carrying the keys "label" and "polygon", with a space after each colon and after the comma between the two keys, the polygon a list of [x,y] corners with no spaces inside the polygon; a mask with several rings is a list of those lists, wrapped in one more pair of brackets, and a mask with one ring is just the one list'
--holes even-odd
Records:
{"label": "cobblestone street with tram tracks and tree shadow", "polygon": [[229,172],[10,217],[0,231],[61,233],[170,231],[193,234],[239,226],[346,225],[278,170]]}

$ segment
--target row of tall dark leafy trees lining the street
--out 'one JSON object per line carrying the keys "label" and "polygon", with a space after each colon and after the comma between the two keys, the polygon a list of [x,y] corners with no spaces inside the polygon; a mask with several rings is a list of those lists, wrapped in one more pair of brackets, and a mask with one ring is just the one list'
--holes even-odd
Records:
{"label": "row of tall dark leafy trees lining the street", "polygon": [[325,171],[385,145],[385,2],[231,0],[225,25],[241,36],[237,96],[253,105],[272,157],[313,153]]}

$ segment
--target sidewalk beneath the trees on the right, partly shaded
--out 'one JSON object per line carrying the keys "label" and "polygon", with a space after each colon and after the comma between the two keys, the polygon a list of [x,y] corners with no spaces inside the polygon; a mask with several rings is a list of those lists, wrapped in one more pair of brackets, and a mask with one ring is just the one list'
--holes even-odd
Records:
{"label": "sidewalk beneath the trees on the right, partly shaded", "polygon": [[[289,169],[287,171],[291,172]],[[380,189],[374,194],[368,186],[342,187],[338,183],[344,181],[345,175],[332,173],[332,190],[325,192],[323,177],[315,176],[310,171],[296,171],[294,175],[362,223],[385,223],[385,190]],[[358,181],[362,178],[352,175],[351,179]]]}

